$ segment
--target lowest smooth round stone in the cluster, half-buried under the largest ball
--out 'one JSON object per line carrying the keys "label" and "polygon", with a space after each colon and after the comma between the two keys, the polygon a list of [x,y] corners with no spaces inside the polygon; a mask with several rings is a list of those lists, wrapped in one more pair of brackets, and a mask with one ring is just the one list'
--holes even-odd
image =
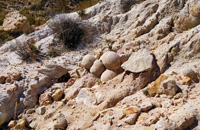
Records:
{"label": "lowest smooth round stone in the cluster, half-buried under the largest ball", "polygon": [[112,70],[105,70],[101,75],[101,81],[108,81],[117,76],[117,73]]}

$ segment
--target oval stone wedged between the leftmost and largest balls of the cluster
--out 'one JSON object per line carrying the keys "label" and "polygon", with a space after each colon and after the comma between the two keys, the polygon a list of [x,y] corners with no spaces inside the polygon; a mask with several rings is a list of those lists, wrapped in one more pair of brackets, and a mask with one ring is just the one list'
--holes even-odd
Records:
{"label": "oval stone wedged between the leftmost and largest balls of the cluster", "polygon": [[92,67],[90,68],[90,72],[95,76],[99,77],[105,71],[105,66],[101,63],[100,60],[96,60]]}

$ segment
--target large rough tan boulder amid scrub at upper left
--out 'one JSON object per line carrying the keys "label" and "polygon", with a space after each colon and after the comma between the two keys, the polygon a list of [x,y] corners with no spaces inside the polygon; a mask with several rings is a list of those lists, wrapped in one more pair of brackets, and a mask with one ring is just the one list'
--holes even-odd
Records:
{"label": "large rough tan boulder amid scrub at upper left", "polygon": [[18,11],[10,12],[3,21],[3,29],[8,32],[25,32],[30,29],[27,18]]}

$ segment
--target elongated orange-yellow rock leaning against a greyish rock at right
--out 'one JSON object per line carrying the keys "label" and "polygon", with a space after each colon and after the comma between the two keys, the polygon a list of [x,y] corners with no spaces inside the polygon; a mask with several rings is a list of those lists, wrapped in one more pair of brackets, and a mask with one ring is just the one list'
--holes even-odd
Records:
{"label": "elongated orange-yellow rock leaning against a greyish rock at right", "polygon": [[153,82],[153,84],[149,87],[148,93],[150,96],[155,96],[158,94],[158,90],[160,88],[161,83],[166,80],[168,76],[160,75],[156,81]]}

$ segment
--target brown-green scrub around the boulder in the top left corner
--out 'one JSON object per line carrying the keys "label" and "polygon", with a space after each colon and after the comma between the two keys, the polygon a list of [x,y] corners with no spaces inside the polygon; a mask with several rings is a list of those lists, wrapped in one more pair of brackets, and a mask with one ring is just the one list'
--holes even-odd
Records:
{"label": "brown-green scrub around the boulder in the top left corner", "polygon": [[[85,8],[88,8],[100,0],[0,0],[0,26],[6,14],[9,12],[7,6],[19,10],[22,15],[25,15],[33,27],[44,24],[50,17],[58,13],[69,13],[72,11],[79,11],[81,17],[85,17]],[[33,30],[23,33],[30,33]],[[20,34],[21,35],[21,34]],[[0,30],[0,46],[6,41],[18,37],[3,30]]]}

